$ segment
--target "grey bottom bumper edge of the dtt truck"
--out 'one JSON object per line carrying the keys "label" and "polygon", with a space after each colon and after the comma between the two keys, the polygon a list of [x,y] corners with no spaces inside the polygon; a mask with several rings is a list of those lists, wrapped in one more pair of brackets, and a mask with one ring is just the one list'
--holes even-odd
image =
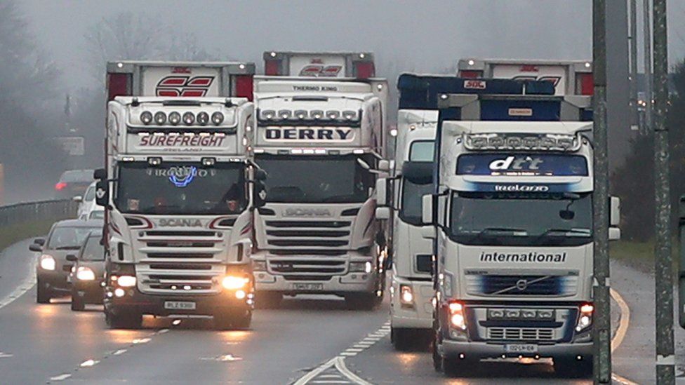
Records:
{"label": "grey bottom bumper edge of the dtt truck", "polygon": [[438,352],[446,358],[458,358],[463,354],[466,358],[515,358],[545,357],[545,358],[573,358],[578,356],[587,358],[592,356],[592,342],[562,343],[554,345],[538,345],[535,353],[507,353],[505,344],[491,344],[487,342],[460,342],[444,339],[438,346]]}

